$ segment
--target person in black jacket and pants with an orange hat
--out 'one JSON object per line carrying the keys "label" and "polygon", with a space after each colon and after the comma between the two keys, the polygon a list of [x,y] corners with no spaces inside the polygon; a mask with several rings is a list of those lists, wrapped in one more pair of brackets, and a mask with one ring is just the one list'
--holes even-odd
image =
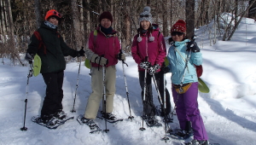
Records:
{"label": "person in black jacket and pants with an orange hat", "polygon": [[[38,28],[40,38],[35,33],[31,37],[31,43],[26,49],[26,61],[32,63],[34,55],[38,54],[42,61],[41,72],[46,84],[46,96],[41,109],[41,120],[44,124],[55,125],[57,119],[64,119],[67,114],[62,111],[63,78],[66,68],[64,56],[84,56],[84,49],[79,51],[71,49],[57,32],[61,23],[61,14],[55,9],[47,12],[44,22]],[[40,47],[40,44],[43,46]],[[40,47],[40,48],[39,48]]]}

